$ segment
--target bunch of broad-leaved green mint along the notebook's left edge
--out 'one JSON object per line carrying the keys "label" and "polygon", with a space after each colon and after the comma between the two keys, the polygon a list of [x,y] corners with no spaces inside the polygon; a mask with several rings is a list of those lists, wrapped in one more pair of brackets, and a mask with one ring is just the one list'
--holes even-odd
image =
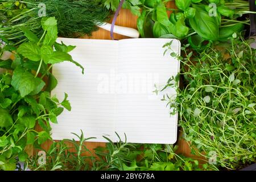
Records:
{"label": "bunch of broad-leaved green mint along the notebook's left edge", "polygon": [[[49,122],[57,123],[57,116],[64,108],[71,110],[67,94],[61,102],[50,95],[57,85],[50,69],[63,61],[81,67],[68,54],[75,46],[56,43],[54,17],[43,18],[42,28],[43,35],[38,38],[22,27],[28,42],[18,48],[6,44],[0,50],[0,57],[5,51],[14,55],[14,60],[0,59],[0,68],[6,69],[0,75],[0,169],[3,170],[14,170],[18,161],[26,161],[28,146],[39,146],[51,139]],[[43,80],[45,76],[49,77],[48,85]],[[35,130],[36,123],[41,131]]]}

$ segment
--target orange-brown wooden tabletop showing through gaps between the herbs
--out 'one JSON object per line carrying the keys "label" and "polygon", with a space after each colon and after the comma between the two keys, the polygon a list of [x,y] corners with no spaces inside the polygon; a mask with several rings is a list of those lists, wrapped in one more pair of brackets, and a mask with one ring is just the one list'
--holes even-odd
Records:
{"label": "orange-brown wooden tabletop showing through gaps between the herbs", "polygon": [[[168,7],[174,7],[174,4],[170,3],[170,5],[168,5]],[[121,12],[119,13],[119,16],[117,18],[117,22],[115,24],[119,25],[119,26],[137,28],[137,16],[132,15],[130,13],[130,10],[121,10]],[[93,32],[92,36],[84,36],[82,38],[111,39],[110,32],[103,30],[101,28],[98,31]],[[127,37],[114,34],[114,39],[127,39]],[[180,135],[181,135],[181,133],[180,133]],[[93,136],[86,136],[86,133],[85,133],[85,137],[93,137]],[[51,144],[51,142],[44,143],[43,148],[47,150],[49,148],[50,144]],[[93,151],[93,148],[96,148],[97,146],[105,146],[105,143],[101,143],[101,142],[86,142],[85,144],[86,144],[86,147],[88,147],[88,149],[91,151]],[[183,154],[185,156],[198,158],[198,156],[191,155],[191,150],[190,150],[187,142],[185,142],[185,140],[181,139],[181,136],[179,137],[177,144],[179,146],[179,149],[177,150],[178,154]],[[69,146],[69,147],[71,147],[71,146]]]}

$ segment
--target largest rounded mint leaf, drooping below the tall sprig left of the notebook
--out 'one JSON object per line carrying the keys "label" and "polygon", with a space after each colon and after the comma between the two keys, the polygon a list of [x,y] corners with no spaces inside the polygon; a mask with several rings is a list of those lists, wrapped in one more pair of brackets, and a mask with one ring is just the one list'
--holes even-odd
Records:
{"label": "largest rounded mint leaf, drooping below the tall sprig left of the notebook", "polygon": [[36,89],[38,81],[34,78],[32,73],[27,72],[25,69],[18,67],[14,70],[13,80],[11,85],[13,85],[15,90],[19,90],[20,96],[24,97],[30,94]]}

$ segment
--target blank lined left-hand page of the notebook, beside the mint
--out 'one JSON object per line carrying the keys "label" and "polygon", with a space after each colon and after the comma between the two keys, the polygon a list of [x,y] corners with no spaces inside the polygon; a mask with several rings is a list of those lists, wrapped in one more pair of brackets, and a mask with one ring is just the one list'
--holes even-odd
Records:
{"label": "blank lined left-hand page of the notebook, beside the mint", "polygon": [[[117,66],[118,42],[113,40],[67,39],[59,38],[66,45],[76,46],[70,54],[73,60],[84,68],[65,61],[54,65],[53,75],[58,80],[51,95],[63,98],[68,94],[72,110],[58,117],[58,124],[52,124],[53,139],[76,138],[71,133],[85,137],[96,137],[90,141],[105,142],[102,135],[110,137],[114,131],[115,94],[113,90],[113,72]],[[112,73],[112,75],[110,74]]]}

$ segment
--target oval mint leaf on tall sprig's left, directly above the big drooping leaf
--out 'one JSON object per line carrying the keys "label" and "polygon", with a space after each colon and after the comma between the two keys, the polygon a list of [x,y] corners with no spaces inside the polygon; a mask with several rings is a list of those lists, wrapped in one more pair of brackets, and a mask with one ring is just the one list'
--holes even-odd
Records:
{"label": "oval mint leaf on tall sprig's left, directly above the big drooping leaf", "polygon": [[31,61],[40,61],[40,47],[32,42],[26,42],[19,46],[17,52]]}

